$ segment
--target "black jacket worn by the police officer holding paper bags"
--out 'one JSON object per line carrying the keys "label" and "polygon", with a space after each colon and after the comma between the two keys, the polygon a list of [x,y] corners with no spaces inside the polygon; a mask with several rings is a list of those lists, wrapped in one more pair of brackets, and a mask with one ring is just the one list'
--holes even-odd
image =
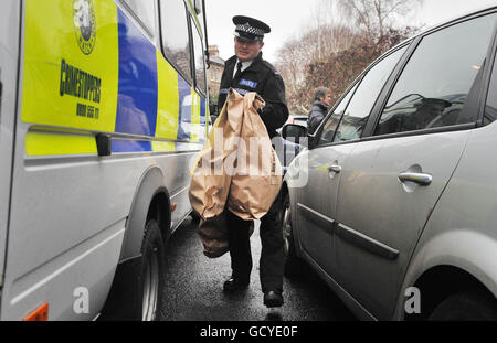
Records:
{"label": "black jacket worn by the police officer holding paper bags", "polygon": [[243,96],[250,92],[256,92],[266,103],[266,106],[262,112],[260,111],[260,115],[266,126],[267,133],[269,133],[271,138],[277,136],[278,133],[276,130],[288,119],[285,84],[282,76],[271,63],[262,58],[261,53],[257,58],[240,74],[240,77],[233,79],[236,62],[236,56],[233,56],[224,64],[218,108],[221,110],[224,106],[230,88],[235,89]]}

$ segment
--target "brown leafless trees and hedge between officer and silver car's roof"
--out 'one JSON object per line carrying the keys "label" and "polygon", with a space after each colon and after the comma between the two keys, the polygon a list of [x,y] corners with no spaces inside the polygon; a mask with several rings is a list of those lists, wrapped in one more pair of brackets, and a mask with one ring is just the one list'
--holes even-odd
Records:
{"label": "brown leafless trees and hedge between officer and silver car's roof", "polygon": [[313,89],[326,86],[338,99],[353,78],[390,47],[411,36],[415,28],[399,15],[423,0],[320,0],[299,36],[278,51],[276,68],[286,85],[292,114],[307,115]]}

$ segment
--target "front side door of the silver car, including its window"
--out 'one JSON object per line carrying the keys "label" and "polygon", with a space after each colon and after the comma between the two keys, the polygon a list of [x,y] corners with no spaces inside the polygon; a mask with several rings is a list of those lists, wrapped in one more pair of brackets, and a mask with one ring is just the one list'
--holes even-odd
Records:
{"label": "front side door of the silver car, including its window", "polygon": [[[299,237],[303,248],[331,277],[336,269],[334,229],[341,169],[360,141],[372,106],[405,50],[406,45],[398,49],[362,75],[322,129],[318,129],[318,147],[308,152],[308,184],[297,202],[303,229]],[[336,129],[338,125],[341,130]]]}

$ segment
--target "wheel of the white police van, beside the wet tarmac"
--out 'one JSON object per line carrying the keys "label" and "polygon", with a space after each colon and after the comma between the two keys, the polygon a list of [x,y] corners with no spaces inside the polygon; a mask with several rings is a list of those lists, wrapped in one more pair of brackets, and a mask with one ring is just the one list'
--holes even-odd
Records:
{"label": "wheel of the white police van, beside the wet tarmac", "polygon": [[160,318],[165,282],[165,246],[157,221],[150,219],[145,227],[141,246],[141,320],[155,321]]}

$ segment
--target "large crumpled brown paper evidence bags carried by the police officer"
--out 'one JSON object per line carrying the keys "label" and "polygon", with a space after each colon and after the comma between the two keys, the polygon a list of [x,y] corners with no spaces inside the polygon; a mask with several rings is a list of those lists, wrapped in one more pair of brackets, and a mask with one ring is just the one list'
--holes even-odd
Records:
{"label": "large crumpled brown paper evidence bags carried by the police officer", "polygon": [[204,255],[229,251],[226,213],[244,221],[262,218],[282,186],[282,165],[257,114],[264,100],[230,89],[228,100],[197,157],[190,203],[200,217]]}

